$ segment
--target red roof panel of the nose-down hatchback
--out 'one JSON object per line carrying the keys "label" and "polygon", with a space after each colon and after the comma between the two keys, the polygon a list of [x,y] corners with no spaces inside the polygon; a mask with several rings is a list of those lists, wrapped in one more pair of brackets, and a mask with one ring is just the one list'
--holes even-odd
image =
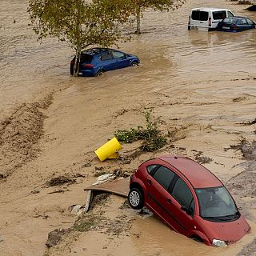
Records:
{"label": "red roof panel of the nose-down hatchback", "polygon": [[182,155],[174,156],[167,154],[159,156],[156,159],[160,159],[174,166],[190,181],[194,188],[223,186],[222,182],[210,170],[190,158]]}

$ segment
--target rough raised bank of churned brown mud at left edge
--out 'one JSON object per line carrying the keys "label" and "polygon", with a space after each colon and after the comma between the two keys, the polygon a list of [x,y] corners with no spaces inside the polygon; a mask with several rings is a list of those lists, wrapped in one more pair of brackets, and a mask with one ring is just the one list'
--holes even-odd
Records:
{"label": "rough raised bank of churned brown mud at left edge", "polygon": [[37,156],[45,118],[41,110],[50,106],[51,100],[52,94],[42,102],[24,103],[0,122],[0,178],[6,178]]}

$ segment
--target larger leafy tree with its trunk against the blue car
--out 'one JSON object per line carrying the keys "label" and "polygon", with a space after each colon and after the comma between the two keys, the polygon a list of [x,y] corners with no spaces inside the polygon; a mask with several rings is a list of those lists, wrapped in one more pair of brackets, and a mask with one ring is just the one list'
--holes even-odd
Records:
{"label": "larger leafy tree with its trunk against the blue car", "polygon": [[128,39],[119,29],[130,17],[128,5],[122,0],[30,0],[28,12],[38,40],[57,37],[74,48],[77,76],[82,48],[108,47]]}

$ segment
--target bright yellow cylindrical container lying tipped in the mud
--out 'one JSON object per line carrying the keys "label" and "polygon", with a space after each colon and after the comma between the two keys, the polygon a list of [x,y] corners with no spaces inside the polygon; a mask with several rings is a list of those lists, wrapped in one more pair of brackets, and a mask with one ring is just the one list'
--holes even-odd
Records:
{"label": "bright yellow cylindrical container lying tipped in the mud", "polygon": [[98,156],[98,159],[101,161],[106,160],[107,158],[117,158],[118,150],[122,150],[121,144],[118,142],[117,138],[112,138],[109,142],[106,142],[103,146],[95,150],[95,154]]}

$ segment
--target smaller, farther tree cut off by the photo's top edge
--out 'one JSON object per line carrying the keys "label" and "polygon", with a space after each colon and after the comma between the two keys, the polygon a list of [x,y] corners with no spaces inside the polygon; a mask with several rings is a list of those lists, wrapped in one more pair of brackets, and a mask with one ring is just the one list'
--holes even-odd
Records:
{"label": "smaller, farther tree cut off by the photo's top edge", "polygon": [[136,34],[141,33],[141,17],[142,10],[145,8],[153,8],[154,10],[170,10],[173,6],[172,0],[130,0],[130,6],[134,8],[134,13],[136,15],[137,30]]}

